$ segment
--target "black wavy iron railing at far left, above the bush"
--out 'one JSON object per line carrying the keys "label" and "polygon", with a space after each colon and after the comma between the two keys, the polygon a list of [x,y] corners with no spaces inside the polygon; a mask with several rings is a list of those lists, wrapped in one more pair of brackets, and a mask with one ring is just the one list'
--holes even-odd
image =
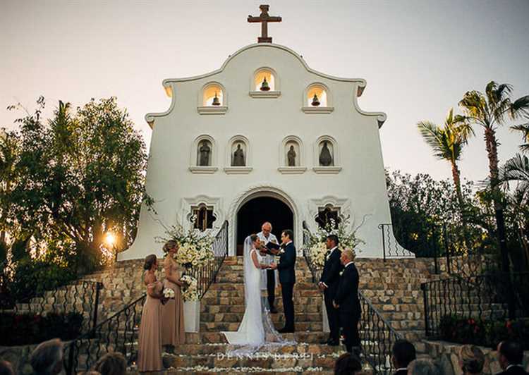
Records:
{"label": "black wavy iron railing at far left, above the bush", "polygon": [[3,264],[0,273],[0,313],[43,316],[77,312],[83,315],[83,333],[97,324],[102,283],[79,280],[41,291],[39,285],[42,281],[37,277],[25,275],[23,280],[15,281],[15,276],[16,264]]}

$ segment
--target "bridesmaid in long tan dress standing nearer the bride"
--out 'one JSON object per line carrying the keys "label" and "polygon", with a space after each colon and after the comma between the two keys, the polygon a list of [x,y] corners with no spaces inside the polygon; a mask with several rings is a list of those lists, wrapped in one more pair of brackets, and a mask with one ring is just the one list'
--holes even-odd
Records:
{"label": "bridesmaid in long tan dress standing nearer the bride", "polygon": [[164,288],[174,290],[174,299],[171,298],[162,307],[162,345],[180,345],[186,342],[186,331],[183,325],[183,300],[180,281],[182,270],[174,260],[178,252],[178,243],[169,240],[163,247],[166,254],[164,260],[165,279]]}

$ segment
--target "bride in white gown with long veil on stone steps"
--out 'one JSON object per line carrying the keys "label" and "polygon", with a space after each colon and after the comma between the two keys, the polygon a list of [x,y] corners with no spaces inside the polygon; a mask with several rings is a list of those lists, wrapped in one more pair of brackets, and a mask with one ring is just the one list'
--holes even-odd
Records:
{"label": "bride in white gown with long veil on stone steps", "polygon": [[257,235],[249,235],[244,240],[244,300],[246,309],[243,321],[236,332],[223,332],[228,343],[259,347],[268,342],[284,343],[270,319],[269,311],[262,303],[262,269],[270,266],[263,264]]}

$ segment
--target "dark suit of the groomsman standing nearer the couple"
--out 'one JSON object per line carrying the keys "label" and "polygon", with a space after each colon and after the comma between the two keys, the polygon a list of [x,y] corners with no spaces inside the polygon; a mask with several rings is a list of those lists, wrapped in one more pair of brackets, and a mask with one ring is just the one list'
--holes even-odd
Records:
{"label": "dark suit of the groomsman standing nearer the couple", "polygon": [[332,305],[332,301],[338,291],[340,272],[343,270],[340,256],[341,252],[337,247],[332,250],[329,259],[325,261],[322,277],[320,278],[320,281],[327,285],[327,288],[325,288],[323,292],[323,297],[325,301],[325,309],[327,309],[329,330],[331,331],[329,333],[329,338],[336,342],[339,342],[340,340],[339,312]]}

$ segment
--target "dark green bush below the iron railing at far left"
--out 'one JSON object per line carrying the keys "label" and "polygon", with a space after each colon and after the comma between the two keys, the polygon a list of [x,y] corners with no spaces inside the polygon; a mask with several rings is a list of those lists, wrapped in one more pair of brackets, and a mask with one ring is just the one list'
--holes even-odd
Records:
{"label": "dark green bush below the iron railing at far left", "polygon": [[0,314],[0,345],[16,346],[42,343],[51,338],[72,340],[80,336],[83,315],[68,314]]}

